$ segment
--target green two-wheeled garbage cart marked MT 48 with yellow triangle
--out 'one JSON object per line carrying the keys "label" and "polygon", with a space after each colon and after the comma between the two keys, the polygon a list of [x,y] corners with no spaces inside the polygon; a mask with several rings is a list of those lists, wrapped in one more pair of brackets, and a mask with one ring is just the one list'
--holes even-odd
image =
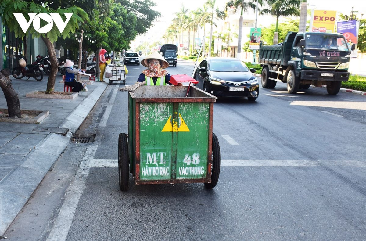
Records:
{"label": "green two-wheeled garbage cart marked MT 48 with yellow triangle", "polygon": [[[187,91],[188,94],[187,94]],[[187,96],[187,97],[186,97]],[[128,135],[119,134],[119,186],[204,183],[220,174],[220,145],[212,133],[216,97],[191,86],[141,86],[128,94]]]}

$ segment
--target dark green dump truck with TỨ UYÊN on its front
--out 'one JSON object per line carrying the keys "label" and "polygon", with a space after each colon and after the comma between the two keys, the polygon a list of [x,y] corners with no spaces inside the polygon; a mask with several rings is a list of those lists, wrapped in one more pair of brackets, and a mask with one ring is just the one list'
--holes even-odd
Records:
{"label": "dark green dump truck with T\u1ee8 UY\u00caN on its front", "polygon": [[310,85],[326,85],[329,94],[337,94],[350,76],[350,49],[341,34],[288,32],[283,43],[260,46],[259,63],[263,88],[273,89],[280,81],[291,94]]}

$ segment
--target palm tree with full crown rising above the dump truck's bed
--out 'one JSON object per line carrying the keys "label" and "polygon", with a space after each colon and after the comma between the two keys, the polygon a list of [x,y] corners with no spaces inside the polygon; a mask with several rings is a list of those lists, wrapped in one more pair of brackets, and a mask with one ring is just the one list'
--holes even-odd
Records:
{"label": "palm tree with full crown rising above the dump truck's bed", "polygon": [[261,14],[270,14],[276,17],[276,29],[273,36],[273,44],[278,43],[278,19],[280,16],[299,16],[299,0],[265,0],[268,8],[261,11]]}

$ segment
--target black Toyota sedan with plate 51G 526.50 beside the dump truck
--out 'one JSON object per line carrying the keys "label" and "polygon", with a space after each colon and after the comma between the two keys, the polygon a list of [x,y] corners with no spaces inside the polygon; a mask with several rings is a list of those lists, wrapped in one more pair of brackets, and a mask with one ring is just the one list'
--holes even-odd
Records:
{"label": "black Toyota sedan with plate 51G 526.50 beside the dump truck", "polygon": [[202,60],[193,78],[197,87],[217,97],[247,97],[255,101],[259,84],[253,75],[254,68],[248,67],[236,58],[212,57]]}

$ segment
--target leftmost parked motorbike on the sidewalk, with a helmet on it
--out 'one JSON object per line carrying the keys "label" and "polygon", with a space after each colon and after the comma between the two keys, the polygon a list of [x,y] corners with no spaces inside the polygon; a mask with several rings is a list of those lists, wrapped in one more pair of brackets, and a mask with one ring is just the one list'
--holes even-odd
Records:
{"label": "leftmost parked motorbike on the sidewalk, with a helmet on it", "polygon": [[[27,62],[26,59],[23,58],[22,55],[18,56],[18,60],[25,60],[25,62]],[[34,78],[36,79],[36,81],[41,81],[43,79],[43,68],[42,68],[42,63],[35,63],[35,64],[28,64],[28,66],[20,66],[19,61],[18,61],[18,66],[13,68],[13,71],[11,72],[11,74],[13,75],[14,78],[16,79],[21,79],[23,77],[28,77],[27,80],[29,78]]]}

